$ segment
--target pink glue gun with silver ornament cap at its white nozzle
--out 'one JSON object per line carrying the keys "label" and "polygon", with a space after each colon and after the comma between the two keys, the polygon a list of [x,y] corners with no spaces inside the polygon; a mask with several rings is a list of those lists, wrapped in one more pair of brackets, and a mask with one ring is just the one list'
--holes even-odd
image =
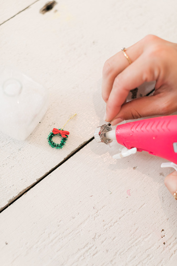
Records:
{"label": "pink glue gun with silver ornament cap at its white nozzle", "polygon": [[177,171],[177,115],[120,124],[115,130],[108,123],[96,128],[94,138],[106,144],[115,139],[124,146],[113,156],[114,159],[147,151],[171,161],[162,163],[161,167],[172,167]]}

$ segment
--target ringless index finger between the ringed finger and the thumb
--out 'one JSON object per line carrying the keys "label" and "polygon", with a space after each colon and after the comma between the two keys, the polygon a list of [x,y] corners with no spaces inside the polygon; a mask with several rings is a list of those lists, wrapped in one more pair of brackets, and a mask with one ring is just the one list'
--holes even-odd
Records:
{"label": "ringless index finger between the ringed finger and the thumb", "polygon": [[[159,75],[159,70],[154,69],[154,68],[155,67],[153,64],[153,59],[151,57],[150,58],[147,57],[145,54],[142,54],[141,56],[138,57],[137,60],[135,60],[131,65],[125,68],[115,78],[111,93],[109,95],[109,99],[107,101],[107,107],[106,107],[106,114],[107,114],[106,121],[107,122],[111,121],[113,118],[115,118],[115,116],[117,117],[117,114],[121,110],[121,105],[123,105],[131,89],[140,86],[145,81],[153,81],[157,79]],[[140,98],[140,100],[143,105],[143,101],[145,101],[145,99]],[[149,100],[146,99],[146,101],[149,101]],[[132,104],[136,104],[136,103],[133,103],[132,101]],[[129,106],[128,103],[126,103],[125,105]],[[142,105],[140,106],[140,108],[143,107]],[[125,106],[123,108],[125,108]],[[149,109],[149,106],[148,106],[148,109]],[[153,112],[153,110],[151,111]],[[130,113],[131,113],[131,110],[129,110],[129,113],[127,114],[128,117],[130,116]],[[125,116],[126,114],[124,113],[123,116],[121,117],[124,118]]]}

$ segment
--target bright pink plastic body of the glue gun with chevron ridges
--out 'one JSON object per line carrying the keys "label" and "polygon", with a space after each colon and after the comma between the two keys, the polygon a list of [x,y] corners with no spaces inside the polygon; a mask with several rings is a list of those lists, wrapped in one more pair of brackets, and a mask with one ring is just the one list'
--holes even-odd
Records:
{"label": "bright pink plastic body of the glue gun with chevron ridges", "polygon": [[177,115],[138,120],[116,127],[117,142],[177,164]]}

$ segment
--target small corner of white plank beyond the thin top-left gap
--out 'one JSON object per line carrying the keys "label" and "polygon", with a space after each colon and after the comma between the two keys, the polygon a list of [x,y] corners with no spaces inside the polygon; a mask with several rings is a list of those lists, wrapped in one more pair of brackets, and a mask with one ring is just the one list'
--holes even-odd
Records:
{"label": "small corner of white plank beyond the thin top-left gap", "polygon": [[20,12],[23,12],[26,8],[29,8],[33,3],[37,2],[39,0],[7,0],[7,1],[1,1],[0,3],[0,9],[3,11],[1,12],[0,16],[0,25],[5,23],[7,20],[13,18],[15,15],[19,14]]}

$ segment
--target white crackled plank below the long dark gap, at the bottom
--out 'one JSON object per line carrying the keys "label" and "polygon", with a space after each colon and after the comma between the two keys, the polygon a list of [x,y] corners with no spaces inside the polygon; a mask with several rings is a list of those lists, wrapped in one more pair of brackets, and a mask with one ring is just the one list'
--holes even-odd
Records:
{"label": "white crackled plank below the long dark gap, at the bottom", "polygon": [[165,160],[119,147],[93,140],[1,213],[2,265],[176,265]]}

